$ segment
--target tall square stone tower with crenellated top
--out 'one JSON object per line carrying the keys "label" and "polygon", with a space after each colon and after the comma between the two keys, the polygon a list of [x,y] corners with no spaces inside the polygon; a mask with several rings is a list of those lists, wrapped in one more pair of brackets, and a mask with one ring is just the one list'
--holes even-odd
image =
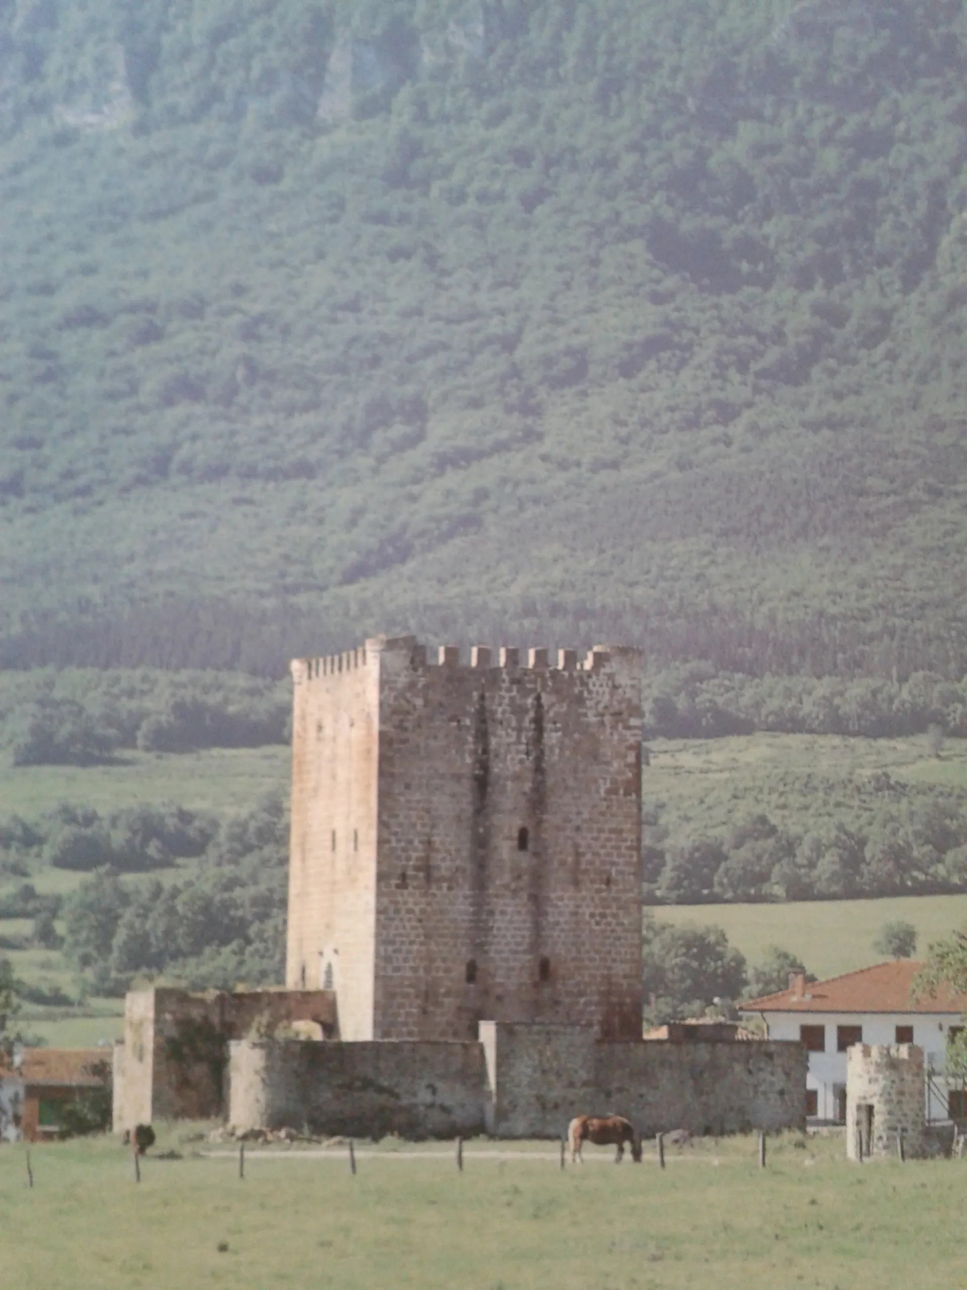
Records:
{"label": "tall square stone tower with crenellated top", "polygon": [[288,984],[335,989],[344,1040],[640,1038],[638,653],[376,637],[291,671]]}

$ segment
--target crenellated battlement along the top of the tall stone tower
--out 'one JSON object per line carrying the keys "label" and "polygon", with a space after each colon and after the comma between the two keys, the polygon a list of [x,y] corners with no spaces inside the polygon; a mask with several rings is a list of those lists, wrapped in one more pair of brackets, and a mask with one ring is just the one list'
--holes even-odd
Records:
{"label": "crenellated battlement along the top of the tall stone tower", "polygon": [[487,671],[527,668],[535,672],[601,672],[615,666],[637,668],[641,663],[641,650],[627,645],[594,645],[584,658],[576,649],[552,651],[544,646],[532,646],[521,658],[521,650],[516,645],[502,645],[496,650],[489,645],[472,645],[469,660],[464,663],[462,653],[459,645],[438,645],[433,653],[425,645],[419,644],[415,636],[374,636],[365,645],[342,654],[294,659],[290,667],[293,680],[299,682],[353,672],[360,667],[378,662],[383,654],[406,655],[409,666],[413,668],[445,667]]}

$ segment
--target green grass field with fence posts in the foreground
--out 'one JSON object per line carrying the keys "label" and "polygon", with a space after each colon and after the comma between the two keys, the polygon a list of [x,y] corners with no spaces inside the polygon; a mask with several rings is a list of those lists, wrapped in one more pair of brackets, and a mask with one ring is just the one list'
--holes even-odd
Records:
{"label": "green grass field with fence posts in the foreground", "polygon": [[[161,1143],[168,1144],[162,1135]],[[549,1148],[549,1149],[548,1149]],[[0,1148],[4,1285],[71,1290],[958,1290],[967,1164],[851,1166],[841,1139],[703,1142],[642,1166],[552,1144],[148,1157],[116,1140]],[[480,1156],[476,1152],[491,1155]],[[397,1158],[393,1158],[393,1156]],[[503,1158],[502,1158],[503,1157]]]}

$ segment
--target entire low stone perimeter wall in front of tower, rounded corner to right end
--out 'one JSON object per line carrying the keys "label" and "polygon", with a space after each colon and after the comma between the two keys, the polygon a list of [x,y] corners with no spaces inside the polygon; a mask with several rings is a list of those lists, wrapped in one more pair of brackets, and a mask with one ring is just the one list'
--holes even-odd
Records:
{"label": "entire low stone perimeter wall in front of tower, rounded corner to right end", "polygon": [[237,1129],[409,1138],[558,1138],[580,1113],[628,1116],[642,1134],[803,1129],[801,1044],[597,1042],[574,1026],[481,1022],[480,1042],[239,1041]]}

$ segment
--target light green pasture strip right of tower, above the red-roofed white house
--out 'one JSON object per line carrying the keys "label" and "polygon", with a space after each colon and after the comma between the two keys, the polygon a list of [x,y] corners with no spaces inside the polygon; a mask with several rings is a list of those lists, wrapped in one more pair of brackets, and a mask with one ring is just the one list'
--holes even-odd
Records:
{"label": "light green pasture strip right of tower, above the red-roofed white house", "polygon": [[967,894],[887,897],[878,900],[801,900],[792,904],[669,904],[655,917],[717,924],[750,964],[766,946],[798,955],[820,978],[879,962],[873,940],[884,922],[904,920],[917,929],[917,953],[931,940],[967,924]]}

